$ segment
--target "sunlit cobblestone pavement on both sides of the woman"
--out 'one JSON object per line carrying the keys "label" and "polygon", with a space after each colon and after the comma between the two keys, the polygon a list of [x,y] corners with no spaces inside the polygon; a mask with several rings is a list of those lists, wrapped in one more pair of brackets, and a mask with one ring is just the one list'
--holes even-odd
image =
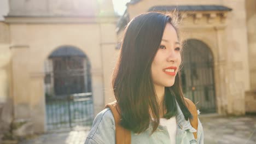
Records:
{"label": "sunlit cobblestone pavement on both sides of the woman", "polygon": [[[201,115],[206,144],[255,144],[256,116],[221,117]],[[72,130],[62,133],[48,133],[21,141],[19,144],[84,143],[88,131]]]}

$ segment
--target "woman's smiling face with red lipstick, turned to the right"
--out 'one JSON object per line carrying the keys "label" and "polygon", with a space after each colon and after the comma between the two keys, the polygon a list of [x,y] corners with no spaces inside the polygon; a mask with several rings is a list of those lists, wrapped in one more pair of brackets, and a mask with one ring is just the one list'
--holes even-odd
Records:
{"label": "woman's smiling face with red lipstick, turned to the right", "polygon": [[176,30],[170,23],[167,23],[151,66],[154,86],[173,86],[179,65],[181,65],[181,44]]}

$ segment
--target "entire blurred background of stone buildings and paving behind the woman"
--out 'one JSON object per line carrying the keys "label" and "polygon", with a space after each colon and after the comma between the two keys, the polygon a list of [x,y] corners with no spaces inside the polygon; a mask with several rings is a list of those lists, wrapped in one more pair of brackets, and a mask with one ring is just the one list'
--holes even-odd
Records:
{"label": "entire blurred background of stone buildings and paving behind the woman", "polygon": [[256,143],[254,0],[0,0],[0,143],[83,143],[127,23],[174,9],[205,143]]}

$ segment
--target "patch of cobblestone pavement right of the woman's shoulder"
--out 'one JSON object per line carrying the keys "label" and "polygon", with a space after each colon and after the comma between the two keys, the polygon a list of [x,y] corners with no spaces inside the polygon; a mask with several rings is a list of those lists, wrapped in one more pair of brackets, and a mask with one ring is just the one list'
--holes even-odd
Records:
{"label": "patch of cobblestone pavement right of the woman's shoulder", "polygon": [[205,143],[256,143],[256,116],[200,116]]}

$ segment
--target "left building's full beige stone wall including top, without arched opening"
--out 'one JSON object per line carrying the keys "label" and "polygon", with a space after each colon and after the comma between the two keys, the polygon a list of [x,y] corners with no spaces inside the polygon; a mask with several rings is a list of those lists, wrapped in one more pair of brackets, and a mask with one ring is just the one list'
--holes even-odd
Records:
{"label": "left building's full beige stone wall including top, without arched opening", "polygon": [[[1,133],[9,130],[10,122],[18,136],[47,130],[44,62],[62,45],[78,47],[89,58],[95,116],[113,101],[110,75],[114,62],[109,61],[114,61],[118,16],[112,0],[11,0],[9,7],[0,22]],[[12,57],[5,66],[7,53]]]}

